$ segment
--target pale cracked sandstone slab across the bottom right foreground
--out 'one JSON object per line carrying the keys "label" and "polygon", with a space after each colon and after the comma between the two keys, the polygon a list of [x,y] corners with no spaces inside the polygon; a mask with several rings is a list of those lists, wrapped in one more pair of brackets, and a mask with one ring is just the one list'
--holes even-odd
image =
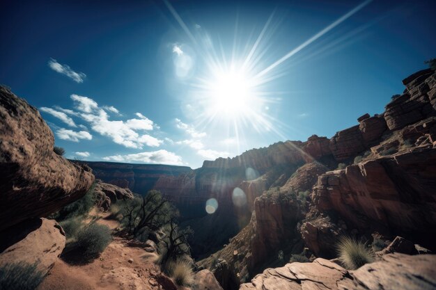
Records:
{"label": "pale cracked sandstone slab across the bottom right foreground", "polygon": [[318,258],[312,263],[267,268],[250,283],[242,284],[240,290],[435,289],[435,263],[436,255],[390,254],[357,271],[347,271],[332,261]]}

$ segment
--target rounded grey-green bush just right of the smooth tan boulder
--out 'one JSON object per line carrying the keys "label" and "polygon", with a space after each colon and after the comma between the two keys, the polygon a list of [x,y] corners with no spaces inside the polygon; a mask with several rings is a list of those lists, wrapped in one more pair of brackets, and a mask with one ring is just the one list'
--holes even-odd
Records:
{"label": "rounded grey-green bush just right of the smooth tan boulder", "polygon": [[91,223],[77,233],[77,246],[87,259],[95,258],[111,242],[111,230],[106,225]]}

